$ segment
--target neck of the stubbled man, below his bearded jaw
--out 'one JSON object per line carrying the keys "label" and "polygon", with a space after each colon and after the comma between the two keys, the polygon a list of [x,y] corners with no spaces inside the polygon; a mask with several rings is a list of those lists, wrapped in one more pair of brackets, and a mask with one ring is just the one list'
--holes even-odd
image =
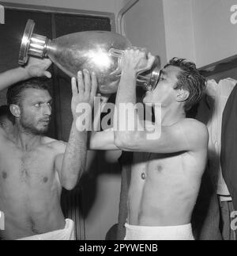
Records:
{"label": "neck of the stubbled man, below his bearded jaw", "polygon": [[23,151],[30,151],[42,143],[43,136],[27,132],[16,124],[13,129],[13,138],[17,146],[21,147]]}

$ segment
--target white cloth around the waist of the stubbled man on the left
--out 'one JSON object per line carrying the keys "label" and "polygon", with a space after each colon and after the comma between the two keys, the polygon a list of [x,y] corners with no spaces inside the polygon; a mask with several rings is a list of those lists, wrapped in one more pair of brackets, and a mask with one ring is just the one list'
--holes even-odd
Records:
{"label": "white cloth around the waist of the stubbled man on the left", "polygon": [[47,232],[40,235],[32,235],[17,240],[75,240],[74,222],[66,219],[66,225],[63,229]]}

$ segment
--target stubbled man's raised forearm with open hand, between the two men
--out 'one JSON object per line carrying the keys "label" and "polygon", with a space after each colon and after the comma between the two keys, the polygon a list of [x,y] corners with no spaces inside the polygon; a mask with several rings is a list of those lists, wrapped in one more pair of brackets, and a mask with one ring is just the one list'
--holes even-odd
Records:
{"label": "stubbled man's raised forearm with open hand, between the two men", "polygon": [[65,154],[58,155],[55,159],[61,185],[68,190],[77,185],[85,170],[88,131],[91,127],[92,107],[97,90],[96,74],[92,73],[92,78],[90,78],[88,71],[83,73],[84,78],[82,72],[78,72],[77,82],[76,78],[72,78],[73,124],[70,139]]}

